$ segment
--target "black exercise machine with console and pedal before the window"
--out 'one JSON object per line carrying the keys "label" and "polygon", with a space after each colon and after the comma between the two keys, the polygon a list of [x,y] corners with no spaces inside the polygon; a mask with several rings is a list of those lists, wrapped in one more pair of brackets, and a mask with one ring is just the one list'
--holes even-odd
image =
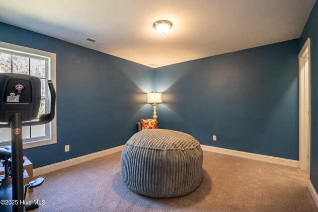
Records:
{"label": "black exercise machine with console and pedal before the window", "polygon": [[[34,205],[25,206],[27,188],[42,185],[44,177],[23,185],[22,127],[43,125],[55,116],[56,93],[48,80],[51,95],[50,113],[37,118],[41,101],[41,80],[38,77],[15,73],[0,73],[0,128],[11,129],[11,146],[0,148],[4,178],[0,184],[0,212],[25,212]],[[11,158],[11,160],[10,160]],[[23,195],[23,189],[25,193]]]}

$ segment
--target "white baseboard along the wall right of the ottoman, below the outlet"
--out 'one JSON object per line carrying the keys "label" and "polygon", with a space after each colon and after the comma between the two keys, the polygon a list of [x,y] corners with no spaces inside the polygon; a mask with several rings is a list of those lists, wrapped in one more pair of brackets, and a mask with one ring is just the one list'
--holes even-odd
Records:
{"label": "white baseboard along the wall right of the ottoman, below the outlet", "polygon": [[213,151],[213,152],[222,153],[222,154],[229,154],[229,155],[233,155],[233,156],[244,157],[244,158],[254,159],[254,160],[260,160],[260,161],[265,161],[265,162],[270,162],[270,163],[276,163],[276,164],[285,165],[285,166],[299,167],[298,160],[291,160],[291,159],[267,156],[267,155],[262,155],[262,154],[254,154],[254,153],[249,153],[249,152],[244,152],[244,151],[237,151],[237,150],[202,145],[202,144],[201,144],[201,147],[203,150],[206,150],[206,151]]}

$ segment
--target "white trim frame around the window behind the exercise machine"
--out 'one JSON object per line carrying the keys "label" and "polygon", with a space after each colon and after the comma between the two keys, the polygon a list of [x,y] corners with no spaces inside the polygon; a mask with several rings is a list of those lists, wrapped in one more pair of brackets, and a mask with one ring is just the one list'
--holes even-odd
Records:
{"label": "white trim frame around the window behind the exercise machine", "polygon": [[[50,58],[50,67],[51,71],[49,71],[49,79],[53,81],[53,84],[55,86],[56,90],[56,54],[51,53],[51,52],[45,52],[42,50],[37,50],[37,49],[32,49],[24,46],[18,46],[15,44],[10,44],[10,43],[4,43],[0,41],[0,49],[3,50],[9,50],[12,52],[15,51],[17,53],[27,53],[29,55],[34,55],[34,56],[44,56]],[[23,143],[23,149],[26,148],[32,148],[32,147],[37,147],[37,146],[43,146],[43,145],[49,145],[53,143],[57,143],[57,136],[56,136],[56,105],[55,105],[55,117],[53,121],[51,122],[51,139],[45,139],[41,141],[29,141],[29,142],[24,142]]]}

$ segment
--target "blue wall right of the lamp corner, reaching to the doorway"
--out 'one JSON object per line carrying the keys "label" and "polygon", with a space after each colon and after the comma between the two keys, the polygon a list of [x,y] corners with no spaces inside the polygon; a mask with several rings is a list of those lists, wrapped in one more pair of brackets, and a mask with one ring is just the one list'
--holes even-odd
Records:
{"label": "blue wall right of the lamp corner, reaching to the doorway", "polygon": [[298,160],[298,51],[295,39],[155,69],[159,127]]}

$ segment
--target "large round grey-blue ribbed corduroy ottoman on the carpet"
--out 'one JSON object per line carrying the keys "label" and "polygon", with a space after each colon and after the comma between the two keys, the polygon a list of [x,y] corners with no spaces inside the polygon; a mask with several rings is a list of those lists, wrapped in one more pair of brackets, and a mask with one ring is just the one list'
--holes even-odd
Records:
{"label": "large round grey-blue ribbed corduroy ottoman on the carpet", "polygon": [[203,153],[192,136],[172,130],[136,133],[121,154],[120,175],[132,191],[156,198],[179,197],[202,179]]}

